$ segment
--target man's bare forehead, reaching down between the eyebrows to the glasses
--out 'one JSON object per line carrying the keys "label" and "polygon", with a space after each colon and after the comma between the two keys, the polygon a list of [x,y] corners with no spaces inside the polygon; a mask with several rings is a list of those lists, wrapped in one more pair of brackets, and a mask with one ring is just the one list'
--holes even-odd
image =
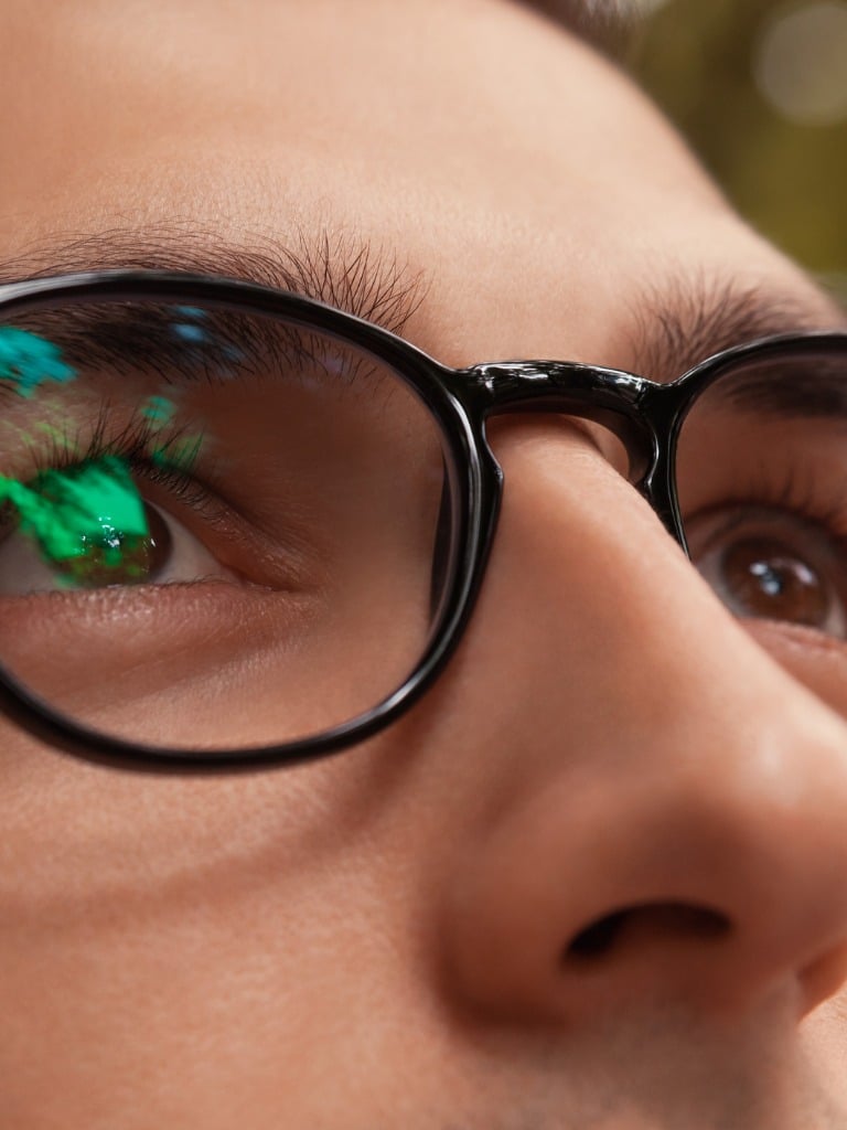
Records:
{"label": "man's bare forehead, reaching down between the eyebrows to the glasses", "polygon": [[428,276],[454,360],[620,362],[610,311],[672,258],[791,275],[626,79],[507,0],[19,0],[0,43],[5,255],[163,221],[342,233]]}

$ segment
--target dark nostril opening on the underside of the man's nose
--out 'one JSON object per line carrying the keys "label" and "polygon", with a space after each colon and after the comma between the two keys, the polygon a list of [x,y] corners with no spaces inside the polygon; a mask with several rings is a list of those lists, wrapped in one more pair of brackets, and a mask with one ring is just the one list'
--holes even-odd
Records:
{"label": "dark nostril opening on the underside of the man's nose", "polygon": [[565,950],[565,960],[596,960],[648,938],[711,941],[731,929],[725,914],[705,906],[648,903],[596,919],[576,935]]}

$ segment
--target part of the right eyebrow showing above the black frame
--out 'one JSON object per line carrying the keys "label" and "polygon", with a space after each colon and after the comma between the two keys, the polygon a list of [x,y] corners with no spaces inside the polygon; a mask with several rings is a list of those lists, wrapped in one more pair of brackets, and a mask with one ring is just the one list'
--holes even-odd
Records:
{"label": "part of the right eyebrow showing above the black frame", "polygon": [[629,341],[634,368],[662,382],[760,338],[847,329],[847,314],[835,302],[827,319],[809,298],[791,292],[710,279],[701,272],[676,270],[670,282],[647,288],[627,305],[635,328]]}

